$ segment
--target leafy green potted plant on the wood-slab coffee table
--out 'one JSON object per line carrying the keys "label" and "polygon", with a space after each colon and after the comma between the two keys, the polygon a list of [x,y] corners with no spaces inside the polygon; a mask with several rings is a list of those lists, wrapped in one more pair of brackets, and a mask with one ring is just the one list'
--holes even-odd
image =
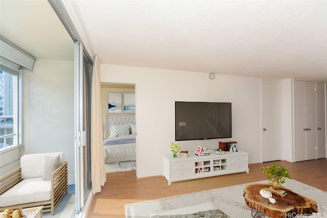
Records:
{"label": "leafy green potted plant on the wood-slab coffee table", "polygon": [[269,166],[262,167],[262,173],[268,176],[268,180],[272,182],[272,188],[281,190],[281,184],[285,183],[285,179],[291,179],[291,174],[284,166],[276,166],[272,163]]}

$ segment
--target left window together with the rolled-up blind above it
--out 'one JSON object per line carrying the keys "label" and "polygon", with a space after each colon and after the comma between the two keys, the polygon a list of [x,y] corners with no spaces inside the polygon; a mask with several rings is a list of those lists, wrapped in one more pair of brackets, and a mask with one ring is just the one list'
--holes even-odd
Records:
{"label": "left window together with the rolled-up blind above it", "polygon": [[35,58],[0,36],[0,150],[22,144],[22,71],[33,70]]}

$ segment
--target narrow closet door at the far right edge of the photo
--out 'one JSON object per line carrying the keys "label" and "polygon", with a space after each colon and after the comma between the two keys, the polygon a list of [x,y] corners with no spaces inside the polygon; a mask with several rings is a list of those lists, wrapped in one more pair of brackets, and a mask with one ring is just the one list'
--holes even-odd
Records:
{"label": "narrow closet door at the far right edge of the photo", "polygon": [[325,84],[316,83],[316,114],[317,114],[317,158],[326,157],[326,148],[325,148]]}

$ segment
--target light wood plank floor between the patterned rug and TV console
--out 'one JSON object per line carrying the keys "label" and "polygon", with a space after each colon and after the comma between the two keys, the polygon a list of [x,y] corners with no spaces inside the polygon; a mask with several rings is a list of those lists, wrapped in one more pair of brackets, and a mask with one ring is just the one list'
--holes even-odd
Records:
{"label": "light wood plank floor between the patterned rug and TV console", "polygon": [[[274,161],[289,169],[294,180],[327,191],[327,159],[290,163]],[[202,179],[173,182],[170,186],[165,177],[136,179],[136,172],[107,174],[107,182],[94,196],[86,217],[125,217],[124,205],[139,201],[181,195],[213,188],[256,182],[267,179],[261,173],[267,163],[249,164],[250,173],[230,174]]]}

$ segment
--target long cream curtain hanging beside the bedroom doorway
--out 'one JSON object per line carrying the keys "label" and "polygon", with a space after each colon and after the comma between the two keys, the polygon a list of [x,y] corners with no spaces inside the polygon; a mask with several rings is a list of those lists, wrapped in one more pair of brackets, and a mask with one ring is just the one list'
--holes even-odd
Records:
{"label": "long cream curtain hanging beside the bedroom doorway", "polygon": [[91,105],[91,181],[93,195],[101,191],[101,186],[106,182],[106,172],[103,154],[102,130],[102,104],[100,61],[96,56],[92,72],[92,105]]}

